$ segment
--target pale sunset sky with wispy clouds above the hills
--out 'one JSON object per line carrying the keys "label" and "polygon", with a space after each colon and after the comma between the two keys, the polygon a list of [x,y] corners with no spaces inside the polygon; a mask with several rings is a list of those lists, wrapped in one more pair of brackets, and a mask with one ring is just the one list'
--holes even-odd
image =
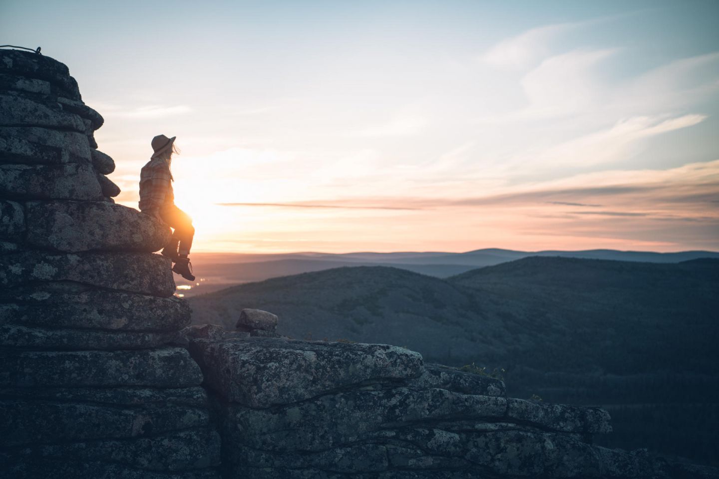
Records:
{"label": "pale sunset sky with wispy clouds above the hills", "polygon": [[0,1],[195,251],[719,250],[718,1]]}

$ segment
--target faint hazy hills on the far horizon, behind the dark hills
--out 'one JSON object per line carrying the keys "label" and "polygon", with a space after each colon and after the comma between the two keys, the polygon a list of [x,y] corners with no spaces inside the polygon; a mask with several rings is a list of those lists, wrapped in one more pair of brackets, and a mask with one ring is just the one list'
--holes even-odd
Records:
{"label": "faint hazy hills on the far horizon, behind the dark hills", "polygon": [[180,294],[186,297],[216,291],[233,284],[257,282],[276,276],[322,271],[342,266],[392,266],[420,274],[446,278],[482,266],[515,261],[528,256],[562,256],[583,259],[618,261],[646,261],[650,263],[678,263],[697,258],[719,258],[715,251],[681,251],[654,253],[651,251],[616,251],[593,249],[586,251],[512,251],[486,248],[465,253],[441,251],[398,253],[290,253],[235,254],[193,253],[196,275],[203,281],[186,282],[179,278]]}

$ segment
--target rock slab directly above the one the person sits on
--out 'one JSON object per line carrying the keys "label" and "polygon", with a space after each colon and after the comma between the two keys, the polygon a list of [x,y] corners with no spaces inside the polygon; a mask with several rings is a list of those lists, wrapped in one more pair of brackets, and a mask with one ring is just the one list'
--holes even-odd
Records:
{"label": "rock slab directly above the one the person sits on", "polygon": [[104,197],[90,164],[0,164],[0,197],[17,200],[89,200]]}

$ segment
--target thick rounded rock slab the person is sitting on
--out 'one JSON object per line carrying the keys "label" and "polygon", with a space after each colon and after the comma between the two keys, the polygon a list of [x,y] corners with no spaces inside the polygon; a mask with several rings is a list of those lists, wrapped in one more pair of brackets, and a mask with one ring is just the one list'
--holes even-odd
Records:
{"label": "thick rounded rock slab the person is sitting on", "polygon": [[134,208],[104,202],[29,201],[27,242],[55,251],[157,251],[167,225]]}

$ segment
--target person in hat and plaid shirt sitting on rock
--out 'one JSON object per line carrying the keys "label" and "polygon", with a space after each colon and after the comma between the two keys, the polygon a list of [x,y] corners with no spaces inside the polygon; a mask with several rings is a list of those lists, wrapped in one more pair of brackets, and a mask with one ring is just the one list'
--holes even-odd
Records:
{"label": "person in hat and plaid shirt sitting on rock", "polygon": [[139,210],[173,228],[170,243],[162,248],[161,254],[173,260],[175,273],[194,281],[189,255],[195,228],[190,215],[175,206],[170,172],[173,153],[178,153],[175,138],[157,135],[152,139],[152,157],[139,173]]}

